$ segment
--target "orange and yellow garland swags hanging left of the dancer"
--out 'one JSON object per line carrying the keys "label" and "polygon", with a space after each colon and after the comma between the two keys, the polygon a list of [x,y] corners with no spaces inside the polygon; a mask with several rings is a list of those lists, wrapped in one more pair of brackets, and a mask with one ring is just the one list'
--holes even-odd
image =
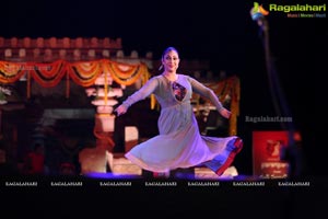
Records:
{"label": "orange and yellow garland swags hanging left of the dancer", "polygon": [[70,80],[86,88],[94,84],[103,72],[109,72],[114,81],[121,85],[133,84],[140,78],[144,84],[150,78],[145,64],[129,65],[108,59],[78,62],[58,60],[49,64],[0,61],[1,83],[13,83],[27,73],[27,97],[31,96],[31,80],[44,88],[50,88],[66,77],[69,97]]}

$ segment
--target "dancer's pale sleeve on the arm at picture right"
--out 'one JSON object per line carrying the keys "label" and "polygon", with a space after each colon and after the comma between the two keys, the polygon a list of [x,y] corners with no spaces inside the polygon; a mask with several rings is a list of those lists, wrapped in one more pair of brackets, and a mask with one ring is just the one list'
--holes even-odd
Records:
{"label": "dancer's pale sleeve on the arm at picture right", "polygon": [[221,111],[223,108],[223,105],[220,102],[219,97],[211,89],[207,88],[206,85],[203,85],[202,83],[198,82],[197,80],[190,77],[189,80],[192,87],[192,91],[202,95],[203,97],[209,99],[211,103],[216,107],[218,111]]}

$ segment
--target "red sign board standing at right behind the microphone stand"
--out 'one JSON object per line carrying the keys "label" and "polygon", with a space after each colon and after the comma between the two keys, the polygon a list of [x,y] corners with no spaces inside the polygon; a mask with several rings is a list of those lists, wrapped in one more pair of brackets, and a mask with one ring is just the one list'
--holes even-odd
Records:
{"label": "red sign board standing at right behind the microphone stand", "polygon": [[288,131],[253,131],[253,172],[263,178],[288,176],[289,163],[281,160],[288,147]]}

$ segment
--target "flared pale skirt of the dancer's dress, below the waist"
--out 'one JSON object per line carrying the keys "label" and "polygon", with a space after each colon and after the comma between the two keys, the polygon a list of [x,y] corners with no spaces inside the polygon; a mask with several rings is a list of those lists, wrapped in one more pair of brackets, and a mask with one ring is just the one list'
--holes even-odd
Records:
{"label": "flared pale skirt of the dancer's dress, below the waist", "polygon": [[[143,170],[152,172],[206,165],[221,175],[241,151],[242,140],[237,136],[201,136],[195,115],[190,114],[190,119],[187,120],[189,122],[183,128],[175,131],[160,129],[159,136],[133,147],[125,157]],[[169,123],[167,118],[160,118],[160,123],[163,122]]]}

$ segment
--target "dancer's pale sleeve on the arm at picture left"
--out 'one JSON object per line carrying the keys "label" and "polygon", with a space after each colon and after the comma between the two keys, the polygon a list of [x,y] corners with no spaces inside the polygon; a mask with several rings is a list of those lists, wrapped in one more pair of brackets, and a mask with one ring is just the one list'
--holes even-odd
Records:
{"label": "dancer's pale sleeve on the arm at picture left", "polygon": [[157,88],[159,81],[156,78],[151,78],[149,81],[145,82],[145,84],[136,91],[132,95],[130,95],[126,101],[122,102],[122,105],[126,106],[126,108],[130,107],[133,103],[144,100],[150,94],[154,92],[154,90]]}

